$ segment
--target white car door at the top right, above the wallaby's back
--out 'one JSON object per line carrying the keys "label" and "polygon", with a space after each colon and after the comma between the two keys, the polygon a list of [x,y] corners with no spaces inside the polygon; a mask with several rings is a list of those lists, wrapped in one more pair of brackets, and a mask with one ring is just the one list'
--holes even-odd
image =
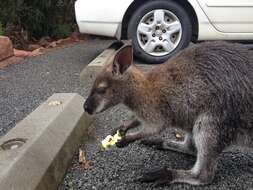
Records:
{"label": "white car door at the top right, above the wallaby's back", "polygon": [[218,31],[253,33],[253,0],[197,1]]}

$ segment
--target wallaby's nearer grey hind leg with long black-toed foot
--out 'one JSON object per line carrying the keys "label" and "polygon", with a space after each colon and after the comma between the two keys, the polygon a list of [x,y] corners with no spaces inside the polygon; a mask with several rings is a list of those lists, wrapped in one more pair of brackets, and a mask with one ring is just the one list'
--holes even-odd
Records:
{"label": "wallaby's nearer grey hind leg with long black-toed foot", "polygon": [[[217,158],[224,148],[220,135],[222,130],[212,116],[202,115],[193,129],[193,139],[197,148],[197,160],[190,170],[163,168],[144,174],[140,180],[157,183],[188,183],[201,185],[210,183],[215,175]],[[227,140],[227,139],[226,139]]]}

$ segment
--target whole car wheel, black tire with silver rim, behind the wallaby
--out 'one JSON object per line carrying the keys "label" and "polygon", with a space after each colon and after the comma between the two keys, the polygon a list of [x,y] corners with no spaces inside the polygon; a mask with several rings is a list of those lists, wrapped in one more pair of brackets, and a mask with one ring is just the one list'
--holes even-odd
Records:
{"label": "whole car wheel, black tire with silver rim, behind the wallaby", "polygon": [[[162,13],[162,12],[164,12],[164,13]],[[150,18],[148,18],[149,14],[151,15]],[[152,14],[153,14],[153,22],[152,22]],[[162,14],[164,14],[165,16],[155,16],[155,15],[162,15]],[[146,15],[147,15],[147,18],[145,17]],[[164,22],[161,21],[162,20],[161,18],[164,19]],[[167,20],[165,21],[166,18],[167,18]],[[146,33],[143,35],[141,33],[142,30],[139,30],[139,26],[141,24],[144,24],[144,26],[146,27],[145,19],[150,19],[149,21],[151,24],[148,23],[147,26],[148,27],[151,26],[151,29],[148,28],[147,30],[148,30],[148,32],[152,33],[152,37],[150,36],[150,33],[148,33],[148,37],[147,37],[145,35]],[[176,36],[176,37],[173,36],[176,39],[175,40],[176,43],[173,45],[173,43],[174,43],[173,37],[171,37],[172,34],[169,33],[169,32],[172,32],[173,27],[172,27],[172,29],[170,29],[169,27],[167,28],[167,26],[169,26],[168,24],[171,24],[172,22],[175,22],[175,21],[178,21],[180,23],[181,29],[180,29],[180,32],[177,32],[174,35],[174,36],[176,36],[176,35],[178,35],[178,36]],[[171,22],[171,23],[169,23],[169,22]],[[178,25],[178,22],[175,22],[175,23]],[[160,27],[160,28],[157,28],[157,26],[154,28],[154,26],[156,25],[155,23],[158,23],[157,25],[159,25],[158,27]],[[161,23],[165,23],[164,30],[162,30]],[[176,24],[175,24],[175,26],[176,26]],[[179,25],[177,27],[179,28]],[[174,29],[178,29],[177,27],[174,27]],[[151,31],[149,31],[149,29]],[[158,29],[159,29],[159,31],[158,31]],[[145,31],[146,31],[146,29],[145,29]],[[164,32],[164,34],[161,34],[161,31]],[[168,33],[168,35],[167,35],[167,33]],[[163,35],[165,35],[165,34],[166,34],[166,38],[167,38],[166,40],[162,38]],[[139,7],[133,13],[132,17],[130,18],[129,24],[128,24],[127,36],[128,36],[128,39],[132,40],[134,55],[136,57],[142,59],[143,61],[145,61],[147,63],[151,63],[151,64],[162,63],[162,62],[165,62],[166,60],[168,60],[171,56],[175,55],[179,50],[181,50],[189,45],[189,43],[191,41],[191,37],[192,37],[192,24],[191,24],[191,20],[189,18],[188,13],[178,3],[175,3],[170,0],[148,1],[145,4],[143,4],[141,7]],[[179,39],[179,37],[180,37],[180,39]],[[157,45],[158,47],[155,47],[154,52],[151,52],[152,50],[150,50],[150,49],[152,49],[153,46],[155,46],[154,44],[160,44],[160,42],[157,40],[157,38],[159,38],[159,40],[162,39],[162,46]],[[152,40],[153,40],[153,42],[152,42]],[[148,46],[147,43],[145,44],[146,41],[147,41],[147,43],[150,42],[149,44],[150,44],[151,48],[148,49],[149,52],[146,51],[147,46]],[[169,42],[169,41],[172,42],[172,45],[168,45],[166,47],[167,44],[171,44],[171,42]],[[164,45],[163,43],[164,44],[166,43],[166,44]],[[173,47],[173,49],[168,50],[169,49],[168,47]]]}

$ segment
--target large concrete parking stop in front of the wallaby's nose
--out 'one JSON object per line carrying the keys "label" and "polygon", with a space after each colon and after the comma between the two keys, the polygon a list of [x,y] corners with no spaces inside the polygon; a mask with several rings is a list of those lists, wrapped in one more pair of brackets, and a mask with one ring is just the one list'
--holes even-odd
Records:
{"label": "large concrete parking stop in front of the wallaby's nose", "polygon": [[92,125],[78,94],[54,94],[0,139],[0,189],[56,189]]}

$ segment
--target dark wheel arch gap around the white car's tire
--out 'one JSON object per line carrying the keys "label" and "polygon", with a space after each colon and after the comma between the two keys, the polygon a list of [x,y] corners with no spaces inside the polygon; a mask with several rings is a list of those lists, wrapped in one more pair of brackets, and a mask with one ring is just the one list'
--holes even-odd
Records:
{"label": "dark wheel arch gap around the white car's tire", "polygon": [[[192,40],[193,42],[196,42],[198,39],[198,31],[199,31],[199,22],[197,18],[197,14],[192,7],[192,5],[187,0],[164,0],[164,1],[173,1],[175,3],[178,3],[180,6],[182,6],[190,16],[190,20],[192,23]],[[127,39],[127,28],[129,21],[131,19],[131,15],[136,11],[144,2],[147,2],[147,0],[134,0],[131,5],[126,10],[123,20],[122,20],[122,26],[121,26],[121,39],[125,40]]]}

